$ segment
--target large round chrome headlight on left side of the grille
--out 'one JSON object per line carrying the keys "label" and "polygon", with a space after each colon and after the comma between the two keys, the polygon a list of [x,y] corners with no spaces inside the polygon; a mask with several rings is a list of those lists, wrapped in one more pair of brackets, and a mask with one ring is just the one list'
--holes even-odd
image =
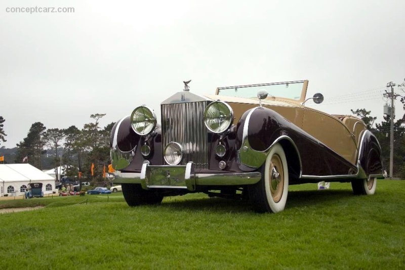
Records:
{"label": "large round chrome headlight on left side of the grille", "polygon": [[131,126],[135,133],[143,136],[156,127],[156,114],[146,106],[139,106],[131,114]]}

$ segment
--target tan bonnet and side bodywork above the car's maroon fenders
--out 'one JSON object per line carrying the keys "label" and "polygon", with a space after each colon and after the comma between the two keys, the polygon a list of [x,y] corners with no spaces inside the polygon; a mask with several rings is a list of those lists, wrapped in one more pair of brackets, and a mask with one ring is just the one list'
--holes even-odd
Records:
{"label": "tan bonnet and side bodywork above the car's maroon fenders", "polygon": [[[305,101],[305,94],[306,87],[303,87],[300,101],[268,97],[262,100],[262,106],[276,111],[327,145],[350,163],[356,164],[358,156],[357,145],[360,134],[366,129],[364,122],[350,115],[334,116],[305,107],[301,104]],[[229,104],[234,113],[234,124],[238,122],[242,114],[247,110],[259,106],[258,98],[247,99],[219,95],[205,96],[212,100],[220,100]],[[316,125],[313,123],[316,123]]]}

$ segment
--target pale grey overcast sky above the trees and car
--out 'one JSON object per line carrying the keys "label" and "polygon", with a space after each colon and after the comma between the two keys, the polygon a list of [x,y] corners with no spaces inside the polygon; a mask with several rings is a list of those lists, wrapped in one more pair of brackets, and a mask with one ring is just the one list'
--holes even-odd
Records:
{"label": "pale grey overcast sky above the trees and car", "polygon": [[[7,8],[74,8],[13,13]],[[10,10],[9,10],[10,11]],[[405,78],[405,1],[0,2],[0,116],[15,147],[32,123],[101,126],[182,91],[308,79],[335,114],[366,108]],[[395,87],[395,91],[399,88]],[[345,98],[347,97],[347,98]],[[397,115],[403,110],[397,103]]]}

